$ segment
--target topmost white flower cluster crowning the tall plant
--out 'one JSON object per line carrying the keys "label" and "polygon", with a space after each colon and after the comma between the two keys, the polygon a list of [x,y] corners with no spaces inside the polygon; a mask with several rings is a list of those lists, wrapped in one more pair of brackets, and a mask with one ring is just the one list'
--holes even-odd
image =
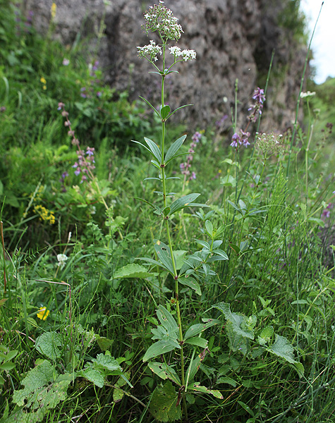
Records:
{"label": "topmost white flower cluster crowning the tall plant", "polygon": [[178,18],[175,18],[172,11],[163,4],[164,1],[159,1],[159,4],[150,6],[145,13],[145,30],[147,33],[158,31],[165,41],[167,39],[177,41],[181,37],[183,28],[178,24]]}

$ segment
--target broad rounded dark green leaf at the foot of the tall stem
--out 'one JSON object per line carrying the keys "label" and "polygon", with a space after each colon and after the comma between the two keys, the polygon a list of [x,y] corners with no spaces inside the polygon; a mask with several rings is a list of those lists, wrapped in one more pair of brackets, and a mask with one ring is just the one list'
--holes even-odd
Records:
{"label": "broad rounded dark green leaf at the foot of the tall stem", "polygon": [[171,381],[157,386],[150,402],[150,412],[158,422],[174,422],[181,419],[181,406],[177,406],[178,395]]}

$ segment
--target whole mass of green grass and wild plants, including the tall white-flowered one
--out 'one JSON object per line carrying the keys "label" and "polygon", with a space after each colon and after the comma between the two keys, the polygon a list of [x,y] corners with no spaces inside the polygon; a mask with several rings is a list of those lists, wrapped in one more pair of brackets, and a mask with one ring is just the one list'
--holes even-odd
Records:
{"label": "whole mass of green grass and wild plants, including the tall white-flowered one", "polygon": [[297,93],[305,130],[262,133],[270,69],[243,128],[236,81],[231,133],[188,134],[164,80],[196,52],[173,45],[183,30],[162,1],[138,47],[157,107],[112,97],[79,47],[49,57],[8,5],[0,422],[333,422],[334,152],[332,123],[314,130],[315,94]]}

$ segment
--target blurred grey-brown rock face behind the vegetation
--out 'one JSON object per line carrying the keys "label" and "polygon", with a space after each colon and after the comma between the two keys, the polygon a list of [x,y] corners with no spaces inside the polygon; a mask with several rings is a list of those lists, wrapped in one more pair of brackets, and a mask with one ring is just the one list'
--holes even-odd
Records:
{"label": "blurred grey-brown rock face behind the vegetation", "polygon": [[[157,0],[158,1],[158,0]],[[156,1],[156,3],[157,3]],[[226,127],[234,106],[238,79],[238,126],[245,128],[253,90],[264,85],[274,56],[274,75],[269,80],[261,130],[284,130],[295,116],[296,98],[307,48],[293,38],[283,16],[292,0],[166,0],[179,18],[184,34],[178,46],[195,49],[197,59],[178,63],[178,74],[166,80],[171,109],[194,104],[176,114],[188,128],[205,128],[223,115]],[[47,31],[51,0],[26,0],[35,13],[35,27]],[[57,0],[54,37],[72,44],[92,36],[90,49],[98,49],[106,82],[117,90],[127,89],[131,99],[138,95],[159,103],[159,75],[137,56],[137,46],[149,44],[141,25],[143,12],[152,2],[139,0]],[[281,24],[279,25],[279,22]],[[103,36],[97,44],[97,33]],[[157,62],[159,63],[159,62]],[[178,66],[177,65],[177,66]],[[264,88],[264,86],[261,86]]]}

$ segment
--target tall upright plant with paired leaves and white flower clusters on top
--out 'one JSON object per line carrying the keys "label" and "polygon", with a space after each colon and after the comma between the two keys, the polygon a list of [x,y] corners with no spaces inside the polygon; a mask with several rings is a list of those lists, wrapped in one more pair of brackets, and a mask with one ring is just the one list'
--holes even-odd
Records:
{"label": "tall upright plant with paired leaves and white flower clusters on top", "polygon": [[[157,206],[157,204],[151,204],[147,202],[147,200],[139,200],[149,204],[154,214],[164,221],[166,243],[162,240],[154,240],[154,250],[157,259],[142,257],[142,260],[149,264],[159,266],[164,271],[167,271],[175,282],[175,289],[174,298],[171,299],[171,305],[173,306],[163,307],[159,305],[157,309],[157,317],[160,324],[157,329],[152,329],[152,339],[155,342],[147,349],[143,361],[148,362],[152,372],[164,380],[170,380],[163,388],[159,388],[159,391],[155,390],[151,401],[152,413],[158,418],[157,410],[159,410],[159,396],[162,396],[162,389],[164,391],[164,396],[171,398],[173,406],[169,408],[169,416],[164,417],[164,421],[168,421],[167,419],[174,420],[181,418],[181,403],[183,404],[183,413],[187,419],[185,393],[189,391],[195,393],[211,393],[217,398],[222,398],[219,391],[209,390],[205,388],[205,386],[200,386],[195,380],[195,374],[208,351],[208,341],[201,338],[202,332],[210,326],[220,323],[220,321],[202,319],[202,323],[195,324],[195,322],[193,322],[192,324],[192,322],[188,322],[188,329],[185,330],[185,324],[183,324],[181,317],[179,287],[180,285],[187,286],[194,290],[196,295],[201,295],[200,284],[203,279],[206,276],[215,275],[214,271],[209,269],[209,262],[228,259],[228,257],[224,251],[219,249],[222,241],[215,240],[219,231],[215,231],[212,223],[204,219],[205,228],[203,233],[209,237],[209,242],[200,240],[199,243],[203,247],[202,250],[193,253],[193,255],[185,259],[181,269],[179,269],[180,266],[176,264],[176,256],[173,253],[173,242],[170,229],[170,222],[173,219],[173,215],[180,212],[185,207],[202,207],[205,204],[195,203],[197,197],[200,196],[199,193],[192,193],[176,200],[170,200],[173,194],[169,193],[169,190],[167,190],[170,179],[167,176],[167,171],[173,159],[181,157],[183,154],[190,157],[191,152],[180,152],[186,135],[174,141],[169,148],[166,147],[166,121],[176,111],[182,107],[190,106],[190,104],[180,106],[172,111],[170,106],[164,102],[164,82],[167,75],[178,73],[173,69],[177,63],[195,59],[196,53],[194,50],[181,49],[178,46],[169,46],[171,41],[176,42],[180,39],[183,29],[178,23],[178,19],[173,16],[172,11],[164,6],[163,1],[159,1],[159,4],[151,6],[149,10],[145,12],[144,18],[145,24],[142,26],[145,32],[147,32],[147,34],[155,32],[158,35],[159,42],[155,42],[152,39],[150,40],[150,44],[144,47],[138,47],[138,55],[150,62],[155,69],[152,73],[156,74],[161,79],[161,102],[159,108],[154,107],[147,99],[141,98],[153,109],[154,113],[159,116],[162,122],[162,136],[160,142],[154,142],[147,137],[144,139],[145,144],[138,141],[134,142],[147,149],[147,152],[152,156],[152,165],[157,168],[158,177],[151,179],[159,181],[162,186],[162,191],[158,192],[158,194],[162,197],[163,204]],[[194,152],[193,149],[192,152]],[[190,160],[186,161],[183,165],[184,170],[188,170],[185,168],[189,167],[189,161]],[[172,309],[173,307],[175,308]],[[196,351],[198,351],[197,354],[195,354]],[[174,352],[177,357],[176,362],[180,363],[180,367],[178,364],[170,363],[171,357],[173,357],[172,352]],[[166,353],[169,353],[170,358],[166,357]],[[155,357],[163,357],[163,361],[154,362],[153,359]],[[171,381],[178,387],[178,392],[174,390]],[[160,411],[163,414],[165,412],[164,410]]]}

